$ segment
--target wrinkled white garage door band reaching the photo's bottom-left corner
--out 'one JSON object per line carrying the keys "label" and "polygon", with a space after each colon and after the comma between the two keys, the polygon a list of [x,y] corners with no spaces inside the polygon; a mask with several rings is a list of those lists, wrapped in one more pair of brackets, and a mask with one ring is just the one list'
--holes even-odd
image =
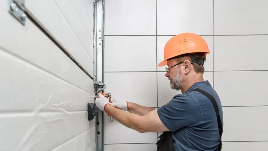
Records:
{"label": "wrinkled white garage door band reaching the photo's bottom-left corner", "polygon": [[1,150],[46,151],[90,128],[87,112],[0,113]]}

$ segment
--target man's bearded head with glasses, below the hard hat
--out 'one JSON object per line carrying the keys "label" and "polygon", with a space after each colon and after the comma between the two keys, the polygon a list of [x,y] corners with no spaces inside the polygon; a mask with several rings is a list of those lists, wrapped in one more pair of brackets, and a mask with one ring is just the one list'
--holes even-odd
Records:
{"label": "man's bearded head with glasses, below the hard hat", "polygon": [[165,76],[170,80],[170,87],[181,90],[183,81],[187,83],[187,80],[203,76],[205,60],[205,53],[192,53],[168,59]]}

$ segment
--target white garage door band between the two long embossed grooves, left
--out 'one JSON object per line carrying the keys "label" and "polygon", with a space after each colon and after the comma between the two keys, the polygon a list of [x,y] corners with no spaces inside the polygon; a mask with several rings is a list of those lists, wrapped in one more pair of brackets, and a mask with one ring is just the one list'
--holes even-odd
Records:
{"label": "white garage door band between the two long embossed grooves, left", "polygon": [[[0,49],[0,111],[87,110],[88,93]],[[93,85],[92,85],[93,87]]]}

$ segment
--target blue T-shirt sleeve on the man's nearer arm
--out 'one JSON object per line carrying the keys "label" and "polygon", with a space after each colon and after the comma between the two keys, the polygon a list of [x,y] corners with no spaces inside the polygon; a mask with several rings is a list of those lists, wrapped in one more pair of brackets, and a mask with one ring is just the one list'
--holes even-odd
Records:
{"label": "blue T-shirt sleeve on the man's nearer arm", "polygon": [[201,122],[200,109],[188,95],[174,96],[169,103],[158,108],[157,112],[162,123],[172,132]]}

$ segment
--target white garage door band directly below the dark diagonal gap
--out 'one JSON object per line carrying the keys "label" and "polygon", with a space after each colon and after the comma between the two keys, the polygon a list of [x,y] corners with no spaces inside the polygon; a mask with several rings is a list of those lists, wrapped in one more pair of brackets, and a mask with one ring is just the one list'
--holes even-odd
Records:
{"label": "white garage door band directly below the dark diagonal gap", "polygon": [[[22,26],[0,1],[0,47],[81,89],[94,93],[93,81],[31,21]],[[80,80],[77,80],[80,79]]]}

